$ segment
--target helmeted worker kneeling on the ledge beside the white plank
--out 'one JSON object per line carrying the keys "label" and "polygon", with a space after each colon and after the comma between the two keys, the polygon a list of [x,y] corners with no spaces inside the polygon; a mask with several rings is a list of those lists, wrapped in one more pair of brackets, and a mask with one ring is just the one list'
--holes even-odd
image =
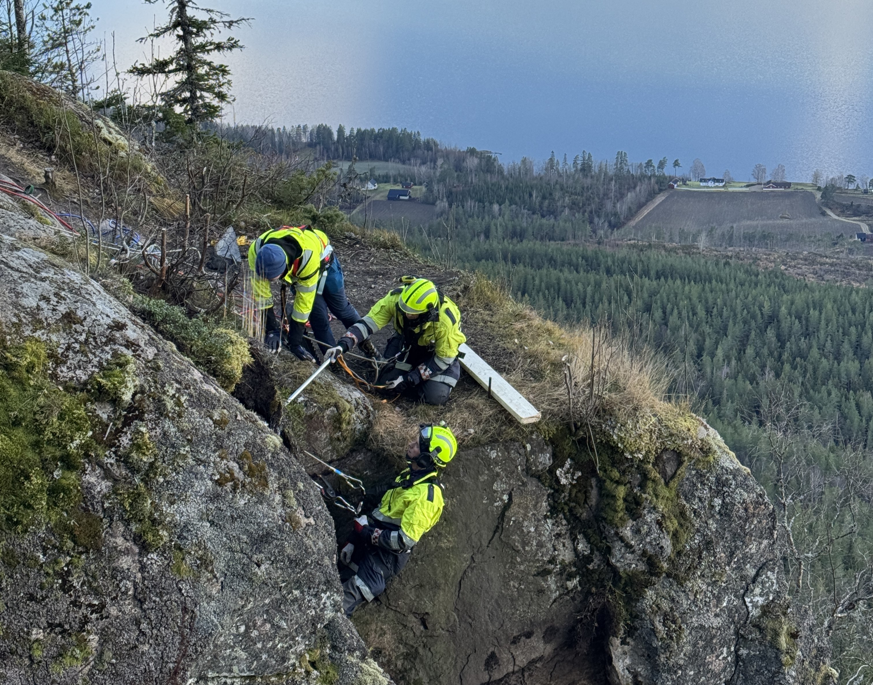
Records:
{"label": "helmeted worker kneeling on the ledge beside the white plank", "polygon": [[396,361],[393,368],[387,366],[380,374],[380,382],[417,401],[445,404],[461,377],[457,348],[466,341],[461,312],[431,281],[404,276],[402,282],[405,285],[390,291],[367,316],[349,327],[325,356],[336,360],[356,344],[366,344],[373,333],[391,323],[395,333],[388,339],[384,356]]}

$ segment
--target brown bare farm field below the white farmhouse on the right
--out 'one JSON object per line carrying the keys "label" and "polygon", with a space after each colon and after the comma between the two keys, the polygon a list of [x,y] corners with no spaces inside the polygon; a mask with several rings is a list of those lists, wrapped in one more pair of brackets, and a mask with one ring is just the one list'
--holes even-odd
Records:
{"label": "brown bare farm field below the white farmhouse on the right", "polygon": [[616,237],[711,247],[818,249],[858,228],[823,213],[809,191],[684,192],[670,195]]}

